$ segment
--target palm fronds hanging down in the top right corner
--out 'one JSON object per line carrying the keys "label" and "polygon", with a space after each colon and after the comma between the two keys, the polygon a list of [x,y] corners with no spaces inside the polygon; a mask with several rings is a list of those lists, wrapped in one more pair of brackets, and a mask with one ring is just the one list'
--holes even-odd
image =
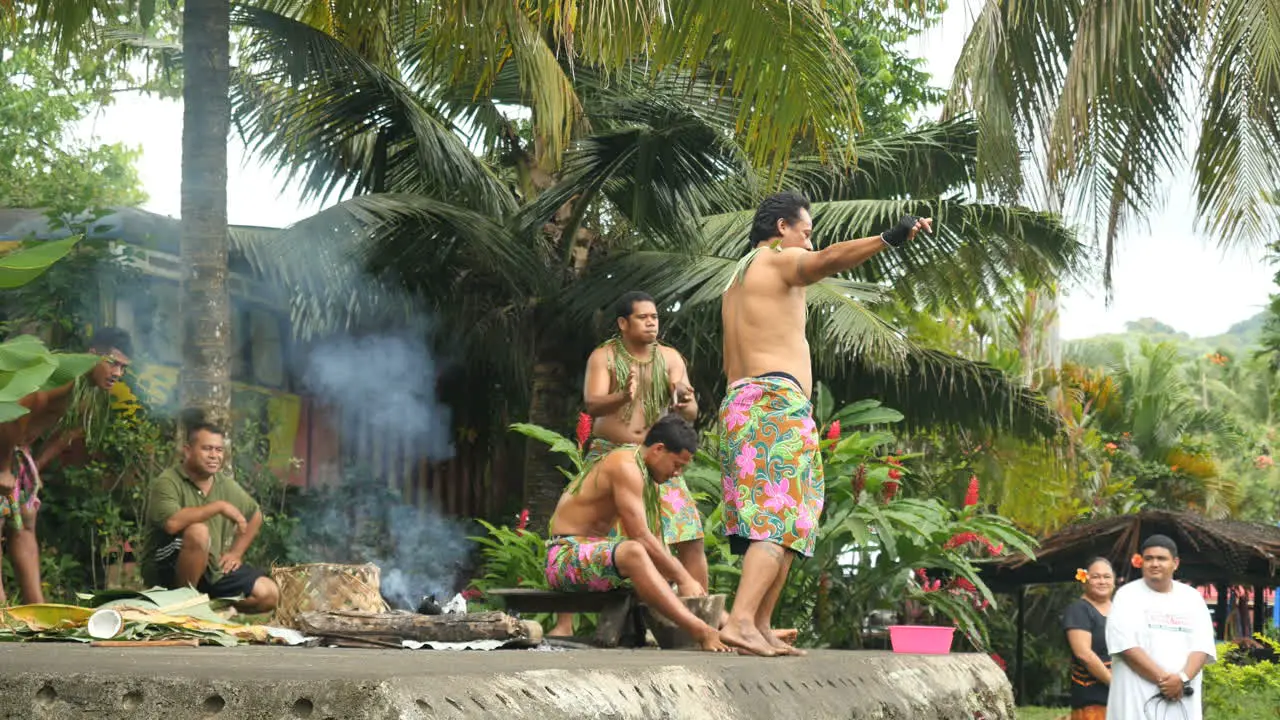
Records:
{"label": "palm fronds hanging down in the top right corner", "polygon": [[977,115],[987,191],[1015,196],[1023,154],[1038,155],[1048,192],[1076,202],[1103,238],[1110,286],[1116,237],[1161,205],[1184,147],[1208,232],[1270,241],[1277,54],[1270,3],[983,0],[947,106]]}

